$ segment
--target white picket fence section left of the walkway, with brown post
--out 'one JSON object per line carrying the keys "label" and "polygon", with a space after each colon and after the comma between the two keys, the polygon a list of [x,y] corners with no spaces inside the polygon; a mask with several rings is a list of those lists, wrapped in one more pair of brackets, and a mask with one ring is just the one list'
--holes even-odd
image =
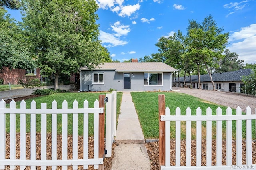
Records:
{"label": "white picket fence section left of the walkway, with brown post", "polygon": [[[116,104],[116,91],[113,92],[115,99],[111,99]],[[112,95],[110,94],[110,95]],[[110,98],[114,98],[110,97]],[[111,101],[109,103],[111,103]],[[5,169],[6,165],[10,165],[13,170],[16,166],[20,166],[24,170],[26,166],[30,166],[32,170],[36,166],[41,166],[41,169],[46,169],[46,166],[52,166],[56,169],[57,166],[62,166],[62,169],[67,169],[67,166],[72,166],[73,169],[78,169],[78,165],[83,165],[84,169],[88,169],[88,165],[94,165],[94,169],[104,169],[104,130],[105,130],[105,95],[99,95],[99,101],[94,102],[94,108],[88,108],[88,101],[84,101],[84,108],[78,108],[78,102],[73,102],[73,108],[68,109],[66,100],[62,103],[62,109],[57,109],[57,102],[52,102],[52,109],[47,109],[47,103],[41,103],[41,109],[36,109],[36,102],[31,102],[31,109],[26,109],[26,102],[20,103],[20,109],[16,109],[16,102],[10,102],[10,109],[6,108],[4,100],[0,101],[0,169]],[[106,110],[112,111],[112,105],[106,106]],[[109,112],[109,111],[108,111]],[[83,114],[83,159],[78,159],[78,114]],[[6,159],[6,114],[10,114],[10,159]],[[20,114],[20,159],[16,159],[16,114]],[[26,159],[26,115],[30,114],[31,131],[30,131],[30,160]],[[36,159],[36,115],[41,115],[41,160]],[[52,115],[52,154],[51,160],[46,159],[46,121],[47,114]],[[57,114],[62,114],[62,159],[57,159]],[[68,114],[73,115],[73,158],[68,159],[67,155],[67,138],[68,138]],[[88,115],[94,114],[94,158],[88,158]],[[116,115],[116,112],[113,114]],[[113,117],[112,113],[108,113]],[[112,118],[113,119],[113,118]],[[112,123],[114,123],[112,121]],[[114,123],[116,125],[116,123]],[[112,126],[112,125],[107,125]],[[107,128],[106,126],[106,128]],[[114,126],[112,126],[114,128]],[[111,135],[106,138],[112,144]],[[107,140],[107,139],[106,139]],[[113,139],[114,140],[114,139]],[[108,144],[108,147],[109,144]],[[108,150],[111,156],[111,147]]]}

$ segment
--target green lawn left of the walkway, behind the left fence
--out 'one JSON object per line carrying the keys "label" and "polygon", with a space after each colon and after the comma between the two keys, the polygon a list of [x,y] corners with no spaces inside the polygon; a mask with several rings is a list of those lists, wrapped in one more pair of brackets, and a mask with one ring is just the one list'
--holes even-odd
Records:
{"label": "green lawn left of the walkway, behind the left fence", "polygon": [[[62,108],[62,102],[66,100],[68,102],[68,108],[73,107],[74,100],[78,101],[78,108],[83,108],[84,101],[87,99],[89,102],[89,108],[94,107],[94,101],[99,100],[99,95],[106,93],[57,93],[47,96],[36,97],[34,99],[26,100],[26,107],[30,108],[30,103],[32,100],[36,101],[36,107],[41,108],[41,103],[47,103],[47,108],[52,108],[52,101],[56,100],[58,103],[58,108]],[[117,93],[117,114],[120,112],[122,93]],[[10,107],[10,104],[6,105],[6,108]],[[16,103],[16,108],[20,108],[20,102]],[[62,132],[62,115],[58,114],[57,116],[57,132],[61,134]],[[117,115],[118,117],[118,115]],[[93,114],[89,115],[89,135],[93,134]],[[20,115],[16,114],[16,131],[20,132]],[[51,114],[47,115],[47,132],[51,132],[52,121]],[[41,129],[41,117],[37,115],[36,120],[36,131],[40,132]],[[10,114],[6,114],[6,132],[10,132]],[[30,132],[30,115],[26,116],[26,132]],[[72,134],[72,114],[68,114],[68,134]],[[83,115],[78,114],[78,135],[83,134]]]}

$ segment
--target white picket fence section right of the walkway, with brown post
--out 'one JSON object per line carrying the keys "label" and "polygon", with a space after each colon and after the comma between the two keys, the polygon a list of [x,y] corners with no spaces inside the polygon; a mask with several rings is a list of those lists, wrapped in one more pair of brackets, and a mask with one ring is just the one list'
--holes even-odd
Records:
{"label": "white picket fence section right of the walkway, with brown post", "polygon": [[[226,109],[222,115],[220,107],[216,115],[212,115],[210,107],[206,115],[198,107],[196,115],[191,115],[191,109],[186,109],[186,115],[180,115],[177,107],[176,115],[170,115],[170,109],[165,108],[165,96],[158,96],[159,103],[159,169],[161,170],[230,170],[230,169],[256,169],[252,164],[252,120],[256,115],[251,114],[251,108],[246,108],[246,115],[242,115],[240,107],[236,115],[232,109]],[[256,110],[256,108],[255,108]],[[236,164],[232,164],[232,121],[236,121]],[[246,165],[242,164],[242,120],[246,121]],[[175,166],[170,165],[170,121],[175,121]],[[181,166],[181,121],[186,121],[186,166]],[[196,166],[191,166],[191,121],[196,121]],[[202,159],[202,121],[206,121],[206,166],[201,165]],[[216,165],[212,166],[212,121],[216,121]],[[226,165],[222,165],[222,121],[226,121]],[[256,126],[256,125],[255,125]],[[255,132],[256,133],[256,132]],[[256,147],[256,146],[255,146]],[[254,153],[255,154],[255,153]],[[253,155],[254,159],[256,155]]]}

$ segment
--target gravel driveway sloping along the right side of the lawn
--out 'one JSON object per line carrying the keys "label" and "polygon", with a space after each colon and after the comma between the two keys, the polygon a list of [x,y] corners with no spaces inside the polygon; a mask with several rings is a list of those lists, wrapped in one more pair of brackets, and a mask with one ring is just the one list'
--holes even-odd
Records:
{"label": "gravel driveway sloping along the right side of the lawn", "polygon": [[192,95],[206,101],[216,103],[218,105],[229,106],[234,109],[240,106],[243,112],[245,112],[246,107],[249,106],[252,109],[252,114],[255,114],[256,97],[223,91],[188,89],[179,87],[172,87],[172,89],[177,93],[186,93],[188,95]]}

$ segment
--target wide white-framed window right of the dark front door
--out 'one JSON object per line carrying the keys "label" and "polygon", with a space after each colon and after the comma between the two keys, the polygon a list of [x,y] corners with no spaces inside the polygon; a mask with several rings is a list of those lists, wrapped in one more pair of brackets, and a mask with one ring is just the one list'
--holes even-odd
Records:
{"label": "wide white-framed window right of the dark front door", "polygon": [[163,73],[144,73],[144,85],[163,85]]}

